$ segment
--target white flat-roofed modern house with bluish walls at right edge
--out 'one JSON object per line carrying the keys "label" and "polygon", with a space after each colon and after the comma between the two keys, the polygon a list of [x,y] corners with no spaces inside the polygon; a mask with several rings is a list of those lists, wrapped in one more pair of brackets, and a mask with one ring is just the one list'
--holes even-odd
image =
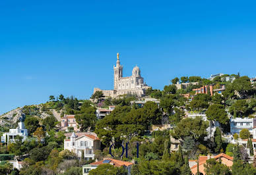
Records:
{"label": "white flat-roofed modern house with bluish walls at right edge", "polygon": [[230,118],[230,132],[231,134],[240,134],[243,129],[249,130],[253,134],[253,118]]}

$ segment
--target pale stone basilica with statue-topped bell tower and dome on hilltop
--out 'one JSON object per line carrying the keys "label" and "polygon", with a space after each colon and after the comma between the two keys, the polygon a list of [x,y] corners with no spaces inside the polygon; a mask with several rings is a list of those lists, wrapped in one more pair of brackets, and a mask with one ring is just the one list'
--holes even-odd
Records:
{"label": "pale stone basilica with statue-topped bell tower and dome on hilltop", "polygon": [[138,66],[133,68],[131,76],[123,77],[123,66],[120,64],[119,53],[117,53],[116,65],[113,66],[113,90],[94,88],[94,93],[102,91],[105,97],[118,97],[125,94],[143,97],[148,88],[150,86],[144,83],[144,78],[141,77],[141,70]]}

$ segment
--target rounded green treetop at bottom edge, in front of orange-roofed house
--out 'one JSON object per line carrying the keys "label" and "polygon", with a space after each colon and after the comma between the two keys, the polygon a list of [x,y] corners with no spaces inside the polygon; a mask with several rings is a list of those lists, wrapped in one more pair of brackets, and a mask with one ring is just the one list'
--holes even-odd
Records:
{"label": "rounded green treetop at bottom edge, in front of orange-roofed house", "polygon": [[125,174],[126,170],[123,166],[115,167],[111,164],[100,164],[96,169],[92,169],[89,172],[89,175],[105,175],[106,172],[110,175],[121,175]]}

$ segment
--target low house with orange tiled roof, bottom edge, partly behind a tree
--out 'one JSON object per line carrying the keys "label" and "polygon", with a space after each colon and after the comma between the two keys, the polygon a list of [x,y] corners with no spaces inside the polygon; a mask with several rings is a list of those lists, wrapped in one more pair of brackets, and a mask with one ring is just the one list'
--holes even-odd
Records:
{"label": "low house with orange tiled roof, bottom edge, partly behind a tree", "polygon": [[[88,175],[90,170],[97,168],[100,164],[109,163],[113,166],[120,167],[123,166],[125,169],[127,169],[128,175],[131,174],[131,166],[133,165],[132,162],[125,162],[125,161],[119,161],[115,159],[106,158],[102,161],[98,162],[92,162],[91,164],[85,164],[82,166],[82,175]],[[106,172],[107,174],[107,172]]]}

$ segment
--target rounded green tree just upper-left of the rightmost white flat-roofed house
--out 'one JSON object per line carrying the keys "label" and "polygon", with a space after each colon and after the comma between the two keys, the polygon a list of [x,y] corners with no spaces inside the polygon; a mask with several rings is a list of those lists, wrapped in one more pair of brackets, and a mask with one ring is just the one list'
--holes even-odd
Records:
{"label": "rounded green tree just upper-left of the rightmost white flat-roofed house", "polygon": [[210,105],[205,114],[207,114],[208,120],[218,121],[220,124],[227,124],[229,120],[224,105]]}

